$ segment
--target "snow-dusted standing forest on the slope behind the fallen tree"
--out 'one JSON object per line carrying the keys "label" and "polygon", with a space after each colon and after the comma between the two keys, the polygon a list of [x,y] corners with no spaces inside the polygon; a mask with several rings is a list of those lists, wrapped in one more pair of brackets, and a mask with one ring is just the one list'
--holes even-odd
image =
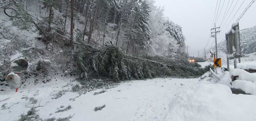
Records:
{"label": "snow-dusted standing forest on the slope behind the fallen tree", "polygon": [[[46,42],[61,38],[68,39],[68,46],[73,46],[75,41],[100,47],[116,45],[125,53],[151,56],[173,55],[185,45],[182,27],[165,18],[164,9],[155,6],[154,0],[19,2],[16,1],[14,6],[23,11],[19,13],[23,15],[13,19],[13,25],[29,29],[31,25],[38,24],[36,28]],[[61,37],[56,33],[62,34]],[[62,38],[63,35],[69,37]]]}

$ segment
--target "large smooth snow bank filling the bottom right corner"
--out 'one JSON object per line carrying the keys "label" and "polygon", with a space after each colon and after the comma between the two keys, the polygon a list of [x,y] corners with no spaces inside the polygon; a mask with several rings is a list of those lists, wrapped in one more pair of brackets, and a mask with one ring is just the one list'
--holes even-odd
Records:
{"label": "large smooth snow bank filling the bottom right corner", "polygon": [[254,121],[256,96],[235,95],[221,84],[199,83],[172,99],[166,121]]}

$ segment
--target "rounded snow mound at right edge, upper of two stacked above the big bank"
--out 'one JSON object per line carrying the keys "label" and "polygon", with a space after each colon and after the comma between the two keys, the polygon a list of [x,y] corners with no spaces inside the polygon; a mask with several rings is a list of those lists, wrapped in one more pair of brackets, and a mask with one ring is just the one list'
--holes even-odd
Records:
{"label": "rounded snow mound at right edge, upper of two stacked above the big bank", "polygon": [[247,81],[251,81],[251,82],[256,82],[256,74],[252,74],[249,72],[244,71],[243,69],[232,69],[229,72],[229,75],[233,75],[233,76],[239,76],[236,79],[239,80],[247,80]]}

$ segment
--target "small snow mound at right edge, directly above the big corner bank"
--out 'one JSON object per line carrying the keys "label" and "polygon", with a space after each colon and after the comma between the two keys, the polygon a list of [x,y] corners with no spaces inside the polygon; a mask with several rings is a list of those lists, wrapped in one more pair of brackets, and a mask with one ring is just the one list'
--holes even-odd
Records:
{"label": "small snow mound at right edge, directly above the big corner bank", "polygon": [[232,82],[232,87],[242,89],[247,94],[256,95],[256,84],[246,80],[235,80]]}

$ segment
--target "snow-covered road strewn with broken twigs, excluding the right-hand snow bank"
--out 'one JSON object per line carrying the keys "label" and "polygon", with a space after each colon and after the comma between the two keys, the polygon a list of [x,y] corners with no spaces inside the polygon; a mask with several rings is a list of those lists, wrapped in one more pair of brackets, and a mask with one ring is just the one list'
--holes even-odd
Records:
{"label": "snow-covered road strewn with broken twigs, excluding the right-hand snow bank", "polygon": [[[42,87],[32,87],[20,89],[15,94],[13,91],[1,95],[1,99],[11,97],[10,99],[0,102],[0,105],[6,104],[7,109],[0,110],[0,120],[17,120],[21,113],[26,113],[29,108],[22,97],[28,96],[37,99],[35,105],[40,118],[46,119],[51,117],[68,117],[75,114],[70,120],[94,120],[94,121],[121,121],[121,120],[163,120],[168,112],[168,104],[172,98],[180,91],[187,89],[198,83],[199,79],[173,79],[173,78],[156,78],[148,80],[135,80],[121,83],[115,88],[108,89],[107,92],[93,95],[94,92],[88,92],[85,95],[66,92],[58,99],[52,99],[52,92],[62,90],[67,83],[47,84]],[[64,87],[68,89],[68,87]],[[70,98],[75,98],[69,100]],[[16,104],[19,102],[18,104]],[[40,103],[40,104],[39,104]],[[106,105],[100,111],[94,111],[96,106]],[[65,112],[55,113],[60,106],[71,105],[72,109]],[[51,114],[51,115],[50,115]]]}

